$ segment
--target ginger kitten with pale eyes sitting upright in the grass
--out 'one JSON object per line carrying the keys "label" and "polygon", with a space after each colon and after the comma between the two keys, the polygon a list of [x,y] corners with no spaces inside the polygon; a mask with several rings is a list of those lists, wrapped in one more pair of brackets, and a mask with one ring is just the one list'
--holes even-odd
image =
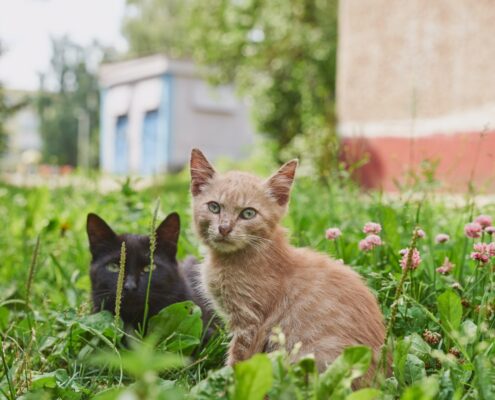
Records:
{"label": "ginger kitten with pale eyes sitting upright in the grass", "polygon": [[356,344],[370,346],[375,363],[385,328],[373,294],[350,267],[292,247],[280,226],[296,167],[289,161],[267,180],[218,174],[192,151],[194,224],[208,248],[202,283],[232,333],[227,364],[274,350],[275,327],[288,350],[300,342],[298,356],[314,354],[320,371]]}

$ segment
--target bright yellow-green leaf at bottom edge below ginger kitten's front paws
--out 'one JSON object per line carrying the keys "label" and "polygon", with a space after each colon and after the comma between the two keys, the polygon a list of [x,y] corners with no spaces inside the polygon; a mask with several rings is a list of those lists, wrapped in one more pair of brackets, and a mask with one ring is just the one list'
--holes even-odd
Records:
{"label": "bright yellow-green leaf at bottom edge below ginger kitten's front paws", "polygon": [[262,400],[273,383],[272,363],[266,354],[255,354],[235,366],[234,400]]}

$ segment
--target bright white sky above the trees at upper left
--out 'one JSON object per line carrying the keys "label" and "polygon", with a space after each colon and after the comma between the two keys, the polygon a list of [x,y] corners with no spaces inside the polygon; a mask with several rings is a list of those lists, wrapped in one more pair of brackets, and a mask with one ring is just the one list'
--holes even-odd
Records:
{"label": "bright white sky above the trees at upper left", "polygon": [[125,50],[120,33],[125,0],[0,0],[0,82],[35,90],[51,57],[50,37],[67,34],[80,45],[93,39]]}

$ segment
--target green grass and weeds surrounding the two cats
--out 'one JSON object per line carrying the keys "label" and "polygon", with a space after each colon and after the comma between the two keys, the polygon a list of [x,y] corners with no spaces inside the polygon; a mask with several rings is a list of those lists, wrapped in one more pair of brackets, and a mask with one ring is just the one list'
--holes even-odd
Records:
{"label": "green grass and weeds surrounding the two cats", "polygon": [[[359,347],[321,375],[310,359],[289,365],[283,353],[258,356],[235,371],[223,368],[226,334],[195,351],[199,316],[180,308],[165,310],[162,320],[150,322],[153,335],[126,349],[113,316],[90,314],[86,215],[101,215],[117,232],[146,234],[159,199],[158,219],[171,211],[181,216],[179,258],[199,256],[188,186],[184,175],[140,192],[124,182],[121,191],[107,194],[99,194],[96,185],[56,190],[0,185],[0,399],[86,399],[98,393],[114,399],[125,391],[140,399],[262,399],[267,391],[273,399],[495,398],[495,259],[478,267],[469,258],[473,240],[463,232],[473,216],[495,217],[495,204],[478,209],[467,198],[451,206],[428,185],[387,199],[349,183],[327,187],[299,178],[284,221],[294,245],[343,259],[360,272],[387,320],[395,304],[389,340],[393,376],[378,376],[375,390],[351,394],[351,378],[369,363],[369,352]],[[358,242],[368,221],[381,223],[385,243],[363,253]],[[422,262],[402,275],[399,251],[410,245],[416,226],[426,232],[417,240]],[[329,227],[342,230],[337,242],[325,239]],[[435,243],[441,232],[450,235],[449,242]],[[445,257],[455,268],[443,276],[436,268]],[[453,289],[456,282],[460,288]],[[426,330],[439,334],[437,343],[422,339]]]}

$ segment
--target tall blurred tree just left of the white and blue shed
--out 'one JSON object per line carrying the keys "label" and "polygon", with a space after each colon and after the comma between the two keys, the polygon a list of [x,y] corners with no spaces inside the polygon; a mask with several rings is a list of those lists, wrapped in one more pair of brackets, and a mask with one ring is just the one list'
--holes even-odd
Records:
{"label": "tall blurred tree just left of the white and blue shed", "polygon": [[[78,121],[82,114],[89,118],[92,149],[98,145],[99,97],[95,66],[90,61],[102,57],[98,44],[83,48],[67,37],[52,40],[51,69],[41,76],[37,96],[40,130],[45,162],[77,165]],[[54,91],[47,83],[54,83]],[[92,165],[97,152],[92,152]]]}

